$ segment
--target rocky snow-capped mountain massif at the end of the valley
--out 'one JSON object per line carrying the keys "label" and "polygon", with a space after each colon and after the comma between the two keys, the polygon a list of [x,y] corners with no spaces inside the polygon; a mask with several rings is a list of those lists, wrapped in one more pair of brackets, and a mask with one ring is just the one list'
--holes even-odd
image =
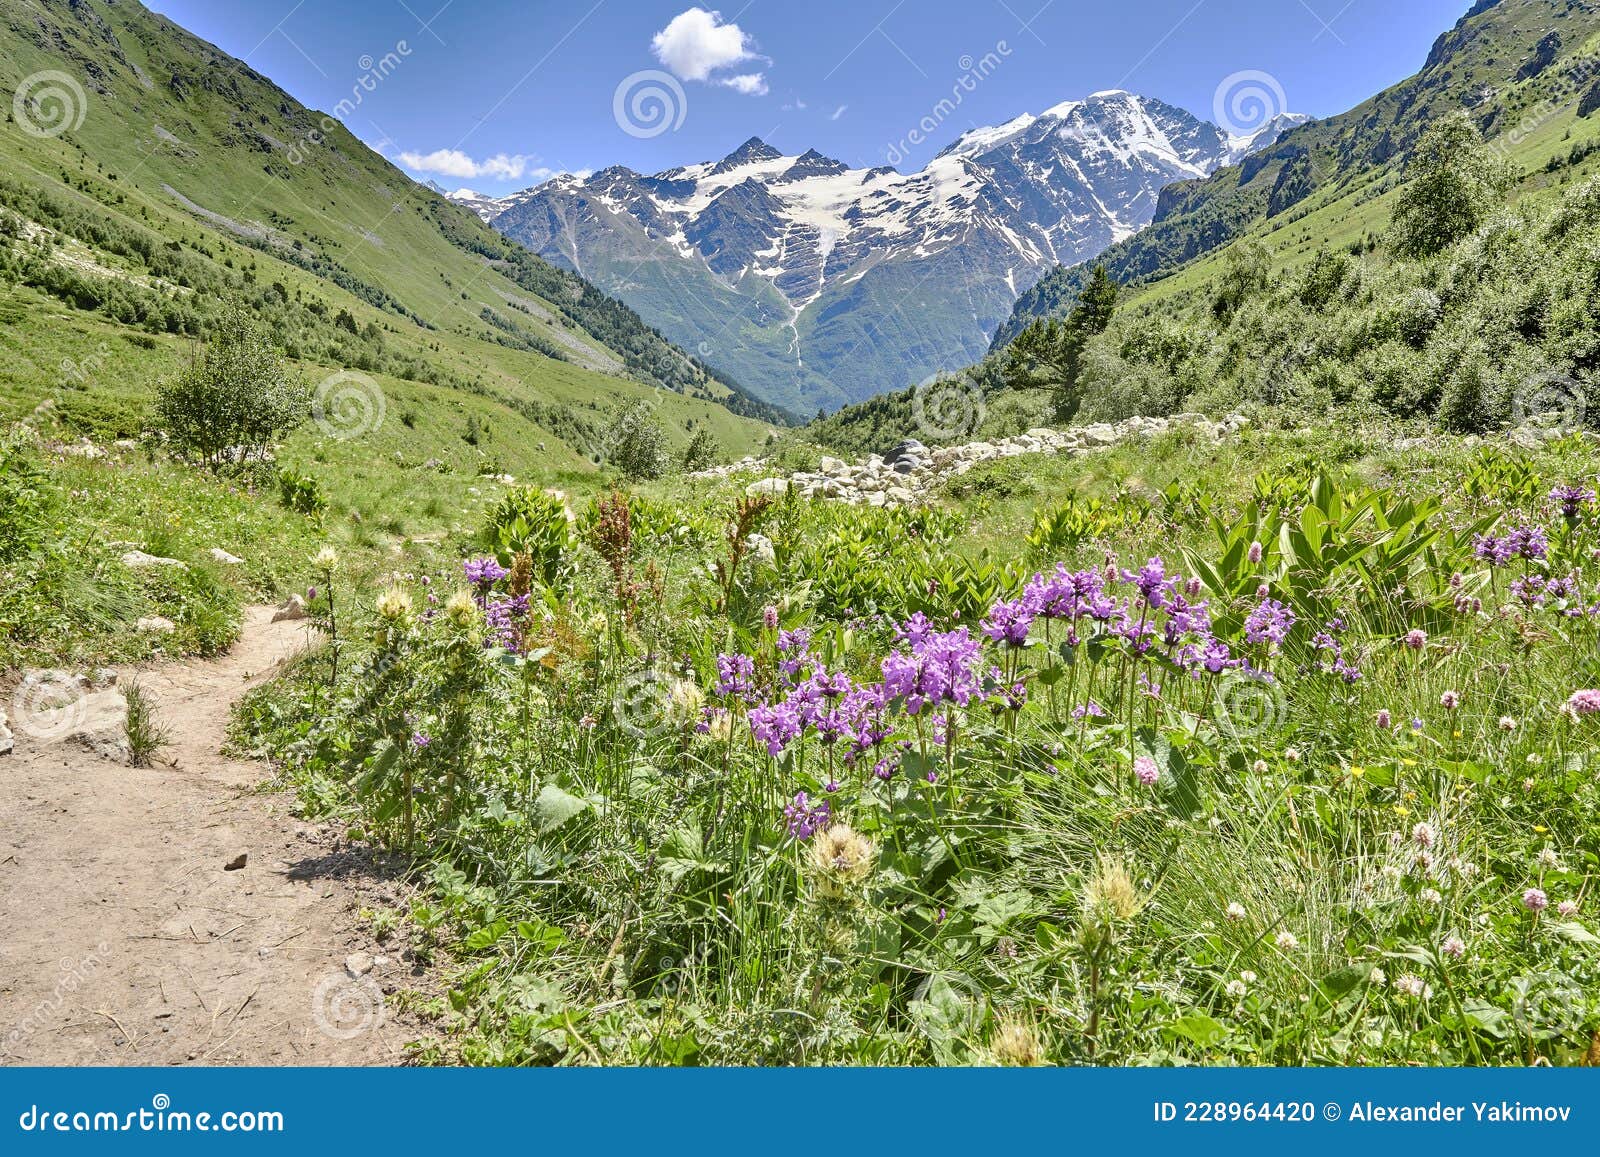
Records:
{"label": "rocky snow-capped mountain massif at the end of the valley", "polygon": [[851,168],[752,138],[718,162],[613,166],[453,200],[581,272],[797,413],[978,360],[1056,264],[1149,224],[1163,186],[1266,147],[1112,91],[958,136],[925,168]]}

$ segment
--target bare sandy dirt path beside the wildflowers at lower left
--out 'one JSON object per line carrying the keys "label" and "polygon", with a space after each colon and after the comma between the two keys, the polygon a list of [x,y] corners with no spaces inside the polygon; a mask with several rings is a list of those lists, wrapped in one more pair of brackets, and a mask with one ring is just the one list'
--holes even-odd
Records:
{"label": "bare sandy dirt path beside the wildflowers at lower left", "polygon": [[138,672],[171,739],[152,768],[30,739],[13,719],[0,1063],[395,1064],[419,1035],[384,1003],[416,983],[405,946],[378,944],[357,915],[403,885],[296,821],[288,799],[253,794],[264,767],[219,754],[230,706],[304,643],[301,624],[270,618],[250,610],[219,659]]}

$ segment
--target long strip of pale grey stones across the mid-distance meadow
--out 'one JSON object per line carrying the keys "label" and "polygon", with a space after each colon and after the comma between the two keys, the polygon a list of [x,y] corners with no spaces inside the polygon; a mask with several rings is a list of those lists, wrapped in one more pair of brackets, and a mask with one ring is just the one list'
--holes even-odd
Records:
{"label": "long strip of pale grey stones across the mid-distance meadow", "polygon": [[[1123,442],[1152,437],[1170,429],[1192,429],[1202,437],[1226,438],[1250,424],[1248,418],[1234,414],[1211,421],[1205,414],[1176,414],[1173,418],[1128,418],[1120,422],[1075,426],[1066,430],[1032,429],[1011,438],[992,442],[968,442],[960,446],[930,450],[915,438],[907,438],[885,454],[872,454],[862,462],[845,462],[824,458],[814,472],[795,474],[790,478],[760,478],[746,491],[750,494],[779,494],[790,486],[806,498],[827,498],[853,506],[912,506],[946,478],[966,474],[979,462],[1021,454],[1086,454]],[[698,477],[726,477],[741,470],[758,470],[763,464],[744,459]]]}

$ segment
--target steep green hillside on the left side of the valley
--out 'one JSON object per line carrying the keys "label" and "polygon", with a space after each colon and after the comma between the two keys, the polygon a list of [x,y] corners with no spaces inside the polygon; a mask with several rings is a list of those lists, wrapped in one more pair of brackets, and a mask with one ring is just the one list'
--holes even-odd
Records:
{"label": "steep green hillside on the left side of the valley", "polygon": [[779,418],[139,5],[5,0],[0,45],[19,93],[0,128],[0,414],[53,398],[78,430],[136,435],[150,387],[237,298],[309,381],[349,368],[491,398],[565,443],[557,466],[638,400],[669,438],[706,426],[726,453],[765,429],[734,411]]}

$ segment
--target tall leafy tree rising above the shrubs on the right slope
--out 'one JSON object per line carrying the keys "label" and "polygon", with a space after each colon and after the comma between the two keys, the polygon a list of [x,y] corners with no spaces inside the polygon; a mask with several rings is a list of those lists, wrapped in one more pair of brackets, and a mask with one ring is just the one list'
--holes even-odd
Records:
{"label": "tall leafy tree rising above the shrubs on the right slope", "polygon": [[1422,134],[1406,176],[1390,226],[1394,251],[1405,258],[1432,256],[1477,230],[1514,179],[1464,112]]}

